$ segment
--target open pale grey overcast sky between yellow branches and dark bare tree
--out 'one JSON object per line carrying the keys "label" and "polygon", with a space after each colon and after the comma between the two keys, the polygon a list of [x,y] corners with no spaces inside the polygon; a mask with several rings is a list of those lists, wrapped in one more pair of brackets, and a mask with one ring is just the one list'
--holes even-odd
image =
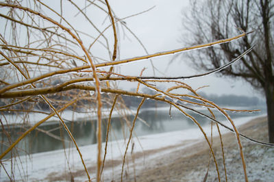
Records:
{"label": "open pale grey overcast sky between yellow branches and dark bare tree", "polygon": [[[185,47],[184,42],[179,40],[184,38],[185,30],[182,26],[182,23],[184,22],[182,12],[187,12],[190,10],[188,1],[112,0],[110,1],[110,5],[112,6],[114,12],[116,12],[116,16],[119,18],[123,18],[137,12],[142,12],[143,10],[147,10],[155,5],[155,8],[149,12],[125,20],[127,26],[134,31],[149,53],[169,51],[172,49]],[[129,32],[127,32],[127,36],[130,40],[129,38],[123,38],[123,36],[119,39],[121,46],[121,59],[145,55],[145,51],[143,51],[140,44],[138,44]],[[184,56],[169,65],[169,60],[171,60],[172,56],[173,55],[153,58],[153,64],[169,76],[186,76],[203,73],[203,71],[197,71],[190,68],[190,66],[186,64],[187,57]],[[146,67],[147,70],[145,70],[143,75],[153,75],[153,71],[148,60],[144,60],[136,64],[121,66],[121,73],[125,75],[139,75],[140,71],[144,67]],[[166,67],[168,67],[167,70]],[[162,74],[158,72],[156,72],[156,75],[162,76]],[[253,88],[251,88],[248,83],[245,83],[245,81],[219,78],[216,77],[216,75],[184,81],[192,86],[192,88],[199,88],[200,86],[209,85],[209,88],[203,88],[203,92],[208,93],[238,95],[248,94],[250,96],[260,96],[260,94],[253,90]],[[126,87],[123,83],[121,83],[120,86]]]}

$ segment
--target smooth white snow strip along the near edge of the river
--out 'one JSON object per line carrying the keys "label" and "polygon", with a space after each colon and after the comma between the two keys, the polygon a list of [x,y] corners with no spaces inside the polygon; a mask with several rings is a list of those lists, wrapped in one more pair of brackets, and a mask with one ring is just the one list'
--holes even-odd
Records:
{"label": "smooth white snow strip along the near edge of the river", "polygon": [[[234,123],[236,126],[243,125],[249,120],[256,118],[258,116],[249,116],[244,118],[236,118]],[[229,125],[228,122],[226,122]],[[231,125],[229,125],[231,126]],[[210,126],[204,127],[207,135],[210,135]],[[213,130],[213,135],[218,135],[216,129]],[[228,132],[227,129],[221,127],[222,133]],[[150,157],[157,157],[157,155],[163,155],[163,153],[169,153],[173,150],[172,147],[177,144],[182,144],[187,140],[193,140],[191,144],[195,144],[203,140],[203,134],[198,128],[186,129],[182,131],[173,131],[169,133],[160,133],[155,135],[145,135],[139,138],[132,138],[134,142],[134,153],[142,153],[143,151],[158,150],[160,148],[170,148],[162,150],[162,152],[150,155]],[[196,142],[195,142],[196,141]],[[132,151],[132,142],[129,146],[127,153]],[[127,140],[119,140],[108,142],[108,153],[106,160],[121,160],[123,154],[125,153],[125,146]],[[189,144],[181,145],[180,147],[186,147]],[[103,148],[105,143],[102,144]],[[88,166],[90,176],[94,179],[96,174],[95,166],[97,164],[97,144],[92,144],[89,146],[82,146],[79,148],[86,166]],[[178,148],[176,148],[178,149]],[[161,151],[161,150],[159,150]],[[104,152],[103,152],[104,153]],[[146,158],[148,159],[148,158]],[[46,179],[49,176],[54,176],[56,174],[62,174],[65,171],[69,172],[68,163],[70,165],[70,170],[75,172],[79,169],[83,169],[82,161],[75,148],[67,148],[66,150],[50,151],[45,153],[36,153],[31,156],[21,156],[12,159],[16,161],[16,164],[11,166],[11,159],[3,160],[2,164],[7,170],[9,175],[14,175],[16,181],[23,179],[23,181],[38,181]],[[0,181],[10,181],[7,174],[1,167],[1,179]],[[13,174],[11,171],[13,169]],[[104,177],[108,177],[115,170],[121,170],[121,166],[116,166],[114,168],[105,168],[103,173]],[[79,181],[86,180],[86,175],[83,174],[82,177],[77,177]]]}

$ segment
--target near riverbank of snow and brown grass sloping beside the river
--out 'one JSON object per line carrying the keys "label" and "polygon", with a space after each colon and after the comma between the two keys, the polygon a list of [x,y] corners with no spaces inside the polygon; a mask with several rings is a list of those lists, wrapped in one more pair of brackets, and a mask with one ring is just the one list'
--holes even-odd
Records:
{"label": "near riverbank of snow and brown grass sloping beside the river", "polygon": [[[239,130],[260,141],[267,141],[266,118],[254,117],[237,118],[234,120]],[[251,121],[249,121],[251,120]],[[204,127],[210,133],[210,127]],[[221,132],[227,132],[221,128]],[[214,135],[217,135],[214,129]],[[238,146],[232,133],[223,134],[227,177],[229,181],[244,179]],[[109,142],[108,153],[103,172],[103,181],[120,181],[124,140]],[[133,145],[134,143],[134,145]],[[249,178],[273,179],[274,149],[259,144],[253,144],[242,139],[247,171]],[[103,143],[103,146],[105,144]],[[80,148],[91,177],[95,178],[97,145],[82,146]],[[214,137],[214,151],[220,168],[221,179],[224,181],[223,160],[219,138]],[[197,128],[184,131],[173,131],[155,135],[146,135],[133,138],[127,151],[127,160],[124,168],[125,181],[202,181],[208,166],[208,146],[201,131]],[[66,157],[65,157],[66,156]],[[67,167],[69,159],[70,168]],[[14,165],[14,178],[24,181],[68,181],[71,177],[75,181],[87,179],[81,159],[75,149],[37,153],[31,157],[16,157],[18,165]],[[133,162],[134,161],[134,162]],[[10,172],[10,160],[3,161],[5,169]],[[208,181],[216,179],[216,170],[211,162]],[[263,178],[262,178],[263,177]],[[251,181],[254,181],[251,180]],[[1,170],[1,181],[10,181]],[[262,180],[264,181],[264,180]]]}

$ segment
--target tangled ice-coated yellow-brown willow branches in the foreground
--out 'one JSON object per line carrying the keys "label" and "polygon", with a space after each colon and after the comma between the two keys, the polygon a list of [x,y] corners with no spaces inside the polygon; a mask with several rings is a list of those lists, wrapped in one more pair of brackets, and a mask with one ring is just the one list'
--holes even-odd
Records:
{"label": "tangled ice-coated yellow-brown willow branches in the foreground", "polygon": [[[20,112],[24,112],[25,114],[39,112],[37,108],[42,104],[47,105],[47,107],[51,109],[51,112],[49,113],[44,112],[48,114],[47,117],[29,127],[29,129],[27,129],[27,131],[25,131],[25,133],[23,133],[15,142],[10,142],[10,144],[8,144],[8,149],[1,153],[1,160],[4,160],[3,157],[5,157],[5,155],[7,155],[10,151],[15,150],[16,144],[25,138],[29,132],[38,129],[39,125],[42,125],[42,123],[46,122],[53,116],[57,116],[59,118],[64,129],[67,133],[69,133],[71,140],[73,140],[79,156],[82,157],[81,151],[79,150],[77,142],[73,138],[69,127],[66,126],[66,123],[60,116],[60,113],[69,107],[74,109],[76,108],[75,110],[84,108],[87,109],[87,111],[94,109],[97,111],[97,150],[101,151],[101,109],[103,104],[111,107],[108,120],[109,131],[112,111],[115,109],[116,102],[122,102],[121,99],[117,98],[119,98],[119,95],[127,95],[142,97],[142,102],[138,107],[138,111],[146,99],[153,99],[155,101],[161,101],[172,105],[178,109],[179,112],[182,112],[182,114],[195,122],[201,132],[203,132],[206,142],[208,142],[212,157],[214,158],[216,172],[219,177],[219,168],[208,136],[203,131],[201,125],[199,125],[199,122],[197,122],[193,116],[186,112],[186,110],[190,109],[199,113],[197,110],[192,109],[189,104],[207,107],[210,115],[207,116],[203,114],[203,116],[210,118],[213,122],[216,122],[218,130],[219,125],[221,125],[236,134],[238,146],[240,147],[240,156],[242,157],[242,168],[247,180],[245,159],[242,155],[242,145],[240,142],[241,134],[238,132],[234,122],[226,112],[227,110],[232,109],[221,108],[211,101],[204,99],[202,96],[197,94],[197,90],[193,90],[190,86],[184,83],[182,79],[201,77],[203,75],[215,73],[216,71],[233,64],[237,60],[240,60],[240,58],[249,53],[253,47],[245,51],[245,53],[242,53],[242,55],[237,57],[235,60],[232,60],[232,62],[229,62],[227,65],[223,65],[220,68],[212,70],[208,73],[191,75],[187,77],[128,76],[121,75],[117,71],[116,67],[126,63],[131,64],[138,60],[147,62],[149,61],[149,58],[158,57],[160,55],[169,55],[183,51],[202,49],[214,46],[215,44],[231,42],[232,40],[237,40],[238,38],[247,36],[249,33],[244,32],[233,38],[217,40],[216,42],[210,42],[197,46],[153,53],[139,57],[129,57],[125,60],[117,60],[117,53],[119,53],[117,29],[119,27],[129,29],[123,21],[125,18],[118,18],[114,14],[108,0],[96,2],[86,1],[85,5],[77,5],[73,1],[67,1],[66,3],[68,3],[72,8],[76,8],[77,15],[81,14],[82,18],[89,23],[90,27],[97,31],[97,37],[92,37],[91,35],[85,34],[84,32],[77,30],[74,25],[69,23],[69,20],[67,20],[63,14],[62,1],[59,11],[51,8],[50,5],[47,5],[42,1],[0,2],[0,16],[2,25],[0,34],[1,115],[5,116],[8,112],[12,114]],[[110,25],[105,27],[103,31],[100,31],[99,28],[92,23],[92,18],[89,18],[86,14],[86,10],[90,7],[101,10],[101,12],[105,13],[106,18],[110,18]],[[5,22],[5,26],[3,26],[3,22]],[[104,35],[105,31],[110,28],[112,28],[113,31],[113,38],[107,38]],[[129,32],[132,31],[129,29]],[[110,42],[114,42],[113,48],[110,47]],[[93,55],[94,52],[92,52],[92,48],[95,44],[101,44],[101,46],[104,47],[106,53],[110,57],[109,60]],[[136,92],[121,90],[116,87],[116,83],[119,81],[136,82],[138,83],[138,87],[140,85],[145,86],[151,90],[154,90],[157,94],[145,94],[138,92],[138,88]],[[167,90],[160,90],[160,88],[157,88],[157,86],[153,85],[153,83],[171,83],[173,86]],[[178,94],[178,90],[188,90],[192,94]],[[102,96],[103,93],[108,94],[106,96]],[[197,102],[190,101],[188,98],[195,99]],[[89,103],[89,107],[86,103]],[[217,109],[219,112],[224,114],[227,120],[231,123],[231,127],[218,122],[214,118],[212,109]],[[127,140],[127,148],[131,140],[138,111],[130,129],[130,137]],[[238,112],[250,111],[245,110]],[[4,122],[8,125],[10,121],[1,120],[2,128],[4,128]],[[6,135],[9,134],[6,133]],[[221,139],[220,131],[219,135]],[[247,138],[245,135],[242,136]],[[251,140],[250,138],[248,139]],[[108,134],[107,141],[105,143],[105,155],[107,144]],[[123,157],[123,166],[125,164],[126,153],[127,149]],[[101,174],[103,172],[102,166],[104,165],[105,155],[103,159],[101,159],[101,152],[98,152],[97,181],[100,181]],[[86,168],[84,159],[82,159],[82,164],[86,170],[88,180],[90,181],[90,174]],[[225,165],[224,156],[223,164]],[[121,170],[121,180],[123,180],[123,168]],[[221,179],[219,177],[219,181],[220,180]]]}

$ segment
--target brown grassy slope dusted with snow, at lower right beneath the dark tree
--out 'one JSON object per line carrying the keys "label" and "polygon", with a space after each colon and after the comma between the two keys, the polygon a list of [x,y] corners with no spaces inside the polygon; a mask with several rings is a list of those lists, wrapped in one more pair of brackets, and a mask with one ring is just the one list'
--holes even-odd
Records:
{"label": "brown grassy slope dusted with snow, at lower right beneath the dark tree", "polygon": [[[239,131],[253,139],[267,142],[266,117],[260,117],[239,127]],[[225,181],[223,159],[219,137],[213,138],[214,152],[219,165],[221,181]],[[245,181],[242,162],[235,135],[223,135],[227,181]],[[262,146],[242,139],[249,181],[273,181],[274,148]],[[186,148],[175,150],[147,161],[147,165],[138,171],[136,181],[203,181],[206,176],[209,150],[206,142],[197,142]],[[210,160],[207,181],[218,181],[213,160]],[[134,181],[130,177],[128,181]]]}

